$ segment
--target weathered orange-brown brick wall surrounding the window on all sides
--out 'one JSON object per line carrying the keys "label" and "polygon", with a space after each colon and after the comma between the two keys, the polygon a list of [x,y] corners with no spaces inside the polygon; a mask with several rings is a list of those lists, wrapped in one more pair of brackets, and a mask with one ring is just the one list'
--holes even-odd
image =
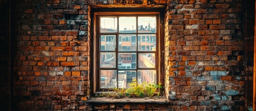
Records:
{"label": "weathered orange-brown brick wall surrounding the window on all sides", "polygon": [[[245,108],[242,0],[15,0],[14,5],[15,110]],[[90,7],[166,7],[162,43],[170,105],[85,103],[92,82]]]}

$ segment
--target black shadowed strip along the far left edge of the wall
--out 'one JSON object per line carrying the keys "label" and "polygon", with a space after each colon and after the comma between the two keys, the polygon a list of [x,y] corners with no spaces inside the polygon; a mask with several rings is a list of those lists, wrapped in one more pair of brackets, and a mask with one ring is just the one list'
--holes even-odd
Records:
{"label": "black shadowed strip along the far left edge of the wall", "polygon": [[0,1],[0,110],[9,111],[9,2]]}

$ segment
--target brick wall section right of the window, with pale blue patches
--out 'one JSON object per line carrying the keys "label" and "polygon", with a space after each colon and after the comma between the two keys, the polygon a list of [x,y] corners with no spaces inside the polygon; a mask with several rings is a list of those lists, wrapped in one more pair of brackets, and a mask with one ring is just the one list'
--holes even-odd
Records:
{"label": "brick wall section right of the window, with pale blue patches", "polygon": [[242,0],[173,0],[167,9],[172,108],[243,110]]}

